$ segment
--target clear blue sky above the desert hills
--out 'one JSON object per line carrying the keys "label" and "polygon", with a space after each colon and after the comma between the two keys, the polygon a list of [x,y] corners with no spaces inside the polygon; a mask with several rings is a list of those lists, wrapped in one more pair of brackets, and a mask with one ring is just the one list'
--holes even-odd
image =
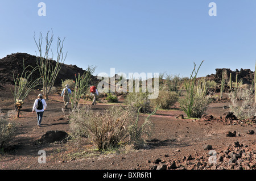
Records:
{"label": "clear blue sky above the desert hills", "polygon": [[[46,16],[39,16],[39,2]],[[210,2],[217,16],[209,16]],[[164,73],[199,77],[216,68],[251,69],[256,60],[256,1],[81,0],[1,1],[0,58],[36,54],[34,32],[53,30],[68,52],[65,64],[101,72]]]}

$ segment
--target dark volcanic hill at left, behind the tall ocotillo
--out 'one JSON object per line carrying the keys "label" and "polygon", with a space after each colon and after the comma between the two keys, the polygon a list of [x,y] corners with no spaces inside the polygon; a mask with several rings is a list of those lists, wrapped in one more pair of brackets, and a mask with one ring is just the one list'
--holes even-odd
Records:
{"label": "dark volcanic hill at left, behind the tall ocotillo", "polygon": [[[27,53],[13,53],[11,55],[7,55],[6,57],[0,59],[0,83],[10,83],[14,84],[13,74],[21,74],[23,71],[23,58],[24,65],[31,65],[35,67],[36,64],[36,56]],[[56,61],[54,61],[56,63]],[[31,69],[28,69],[31,70]],[[85,70],[77,67],[76,65],[67,65],[63,64],[60,69],[59,74],[55,80],[55,86],[61,85],[61,79],[65,81],[65,79],[73,79],[75,80],[75,74],[83,74]],[[32,75],[32,79],[40,77],[39,71],[35,71]],[[97,79],[92,76],[92,80],[96,81]]]}

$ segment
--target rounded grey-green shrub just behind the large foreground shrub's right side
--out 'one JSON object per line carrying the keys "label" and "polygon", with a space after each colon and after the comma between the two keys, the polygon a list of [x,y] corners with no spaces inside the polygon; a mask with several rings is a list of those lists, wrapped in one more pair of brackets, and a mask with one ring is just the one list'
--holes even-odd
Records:
{"label": "rounded grey-green shrub just behind the large foreground shrub's right side", "polygon": [[148,113],[152,111],[150,105],[150,99],[148,99],[148,93],[145,92],[129,92],[126,95],[125,103],[134,109],[135,112]]}

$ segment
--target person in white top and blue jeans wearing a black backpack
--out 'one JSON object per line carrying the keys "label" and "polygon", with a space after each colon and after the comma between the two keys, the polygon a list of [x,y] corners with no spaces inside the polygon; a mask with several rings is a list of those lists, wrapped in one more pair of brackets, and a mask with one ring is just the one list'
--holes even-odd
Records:
{"label": "person in white top and blue jeans wearing a black backpack", "polygon": [[32,108],[32,112],[36,111],[36,114],[38,115],[37,121],[39,127],[41,127],[43,113],[44,110],[46,110],[46,106],[46,101],[43,99],[43,95],[39,94],[38,99],[35,100],[34,106]]}

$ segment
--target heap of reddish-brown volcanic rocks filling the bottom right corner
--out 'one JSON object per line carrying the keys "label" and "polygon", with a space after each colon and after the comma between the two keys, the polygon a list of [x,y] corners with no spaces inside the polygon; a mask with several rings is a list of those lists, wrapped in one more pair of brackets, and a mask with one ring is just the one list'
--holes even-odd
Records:
{"label": "heap of reddish-brown volcanic rocks filling the bottom right corner", "polygon": [[[206,145],[207,146],[207,145]],[[218,151],[217,155],[209,155],[206,151],[205,155],[195,153],[189,154],[182,159],[170,160],[166,163],[160,163],[158,166],[151,166],[151,169],[165,170],[255,170],[256,169],[256,151],[255,145],[242,149],[242,144],[234,142],[225,150]],[[217,163],[209,162],[209,156],[217,158]]]}

